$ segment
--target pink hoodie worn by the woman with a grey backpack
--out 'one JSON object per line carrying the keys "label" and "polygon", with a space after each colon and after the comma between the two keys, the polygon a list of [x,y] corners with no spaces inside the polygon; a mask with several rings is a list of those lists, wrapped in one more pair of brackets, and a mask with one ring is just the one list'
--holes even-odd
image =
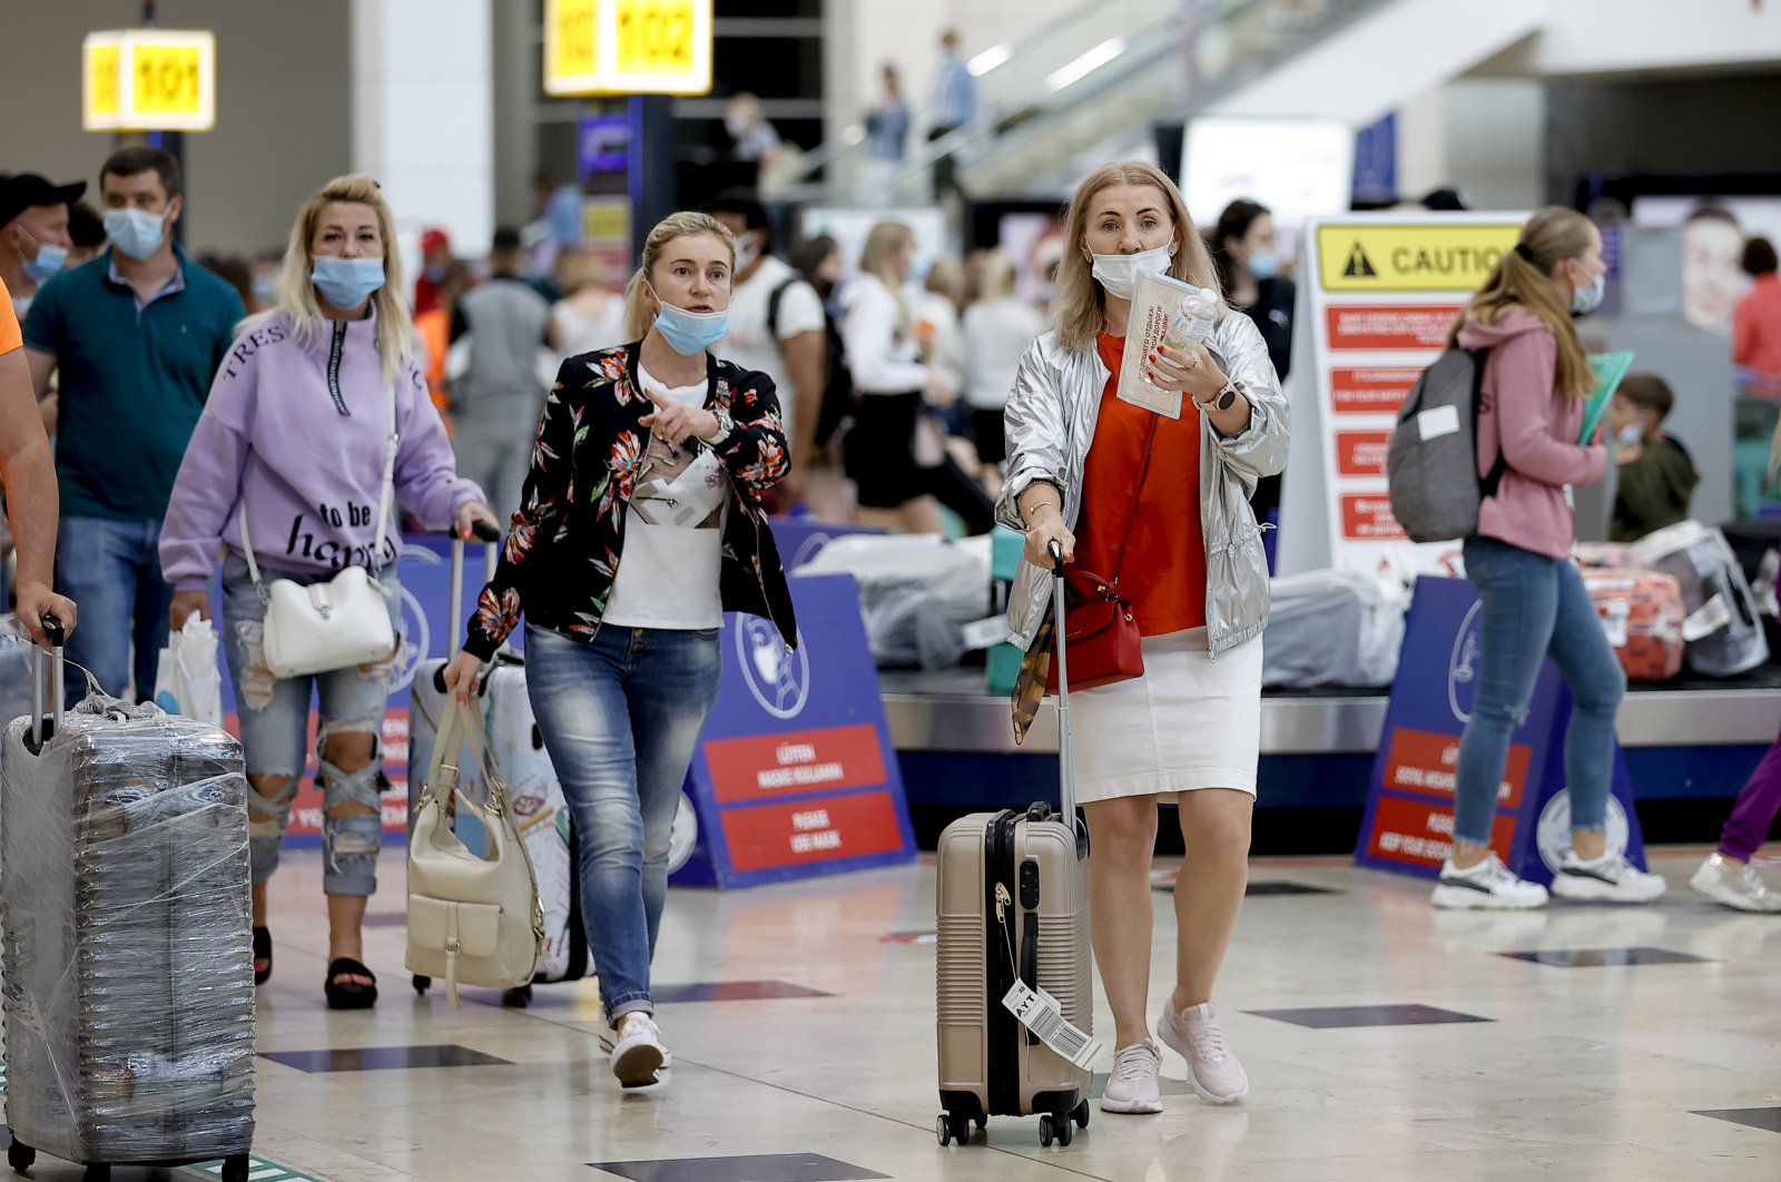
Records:
{"label": "pink hoodie worn by the woman with a grey backpack", "polygon": [[1576,522],[1565,484],[1594,484],[1606,454],[1574,443],[1583,399],[1557,386],[1558,342],[1532,312],[1509,308],[1494,324],[1468,320],[1462,349],[1489,349],[1478,395],[1478,472],[1487,475],[1501,445],[1509,461],[1496,495],[1478,507],[1478,532],[1555,559],[1571,557]]}

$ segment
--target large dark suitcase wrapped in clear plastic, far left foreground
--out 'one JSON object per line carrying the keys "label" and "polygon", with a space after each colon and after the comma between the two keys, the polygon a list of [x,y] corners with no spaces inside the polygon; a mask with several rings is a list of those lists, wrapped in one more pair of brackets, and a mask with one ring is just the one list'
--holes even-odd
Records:
{"label": "large dark suitcase wrapped in clear plastic, far left foreground", "polygon": [[[39,650],[41,653],[41,650]],[[41,660],[41,657],[39,657]],[[5,732],[7,1161],[224,1159],[253,1143],[253,938],[240,742],[96,692]]]}

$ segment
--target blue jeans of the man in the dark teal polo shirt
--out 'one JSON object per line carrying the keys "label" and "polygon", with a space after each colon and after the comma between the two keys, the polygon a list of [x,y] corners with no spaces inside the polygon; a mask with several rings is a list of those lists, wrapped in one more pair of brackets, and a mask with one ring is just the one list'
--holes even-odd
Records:
{"label": "blue jeans of the man in the dark teal polo shirt", "polygon": [[[167,646],[173,584],[160,577],[160,522],[62,518],[55,538],[55,589],[80,605],[68,659],[91,669],[100,687],[123,698],[155,696],[155,664]],[[135,648],[132,659],[132,644]],[[68,705],[87,692],[68,678]]]}

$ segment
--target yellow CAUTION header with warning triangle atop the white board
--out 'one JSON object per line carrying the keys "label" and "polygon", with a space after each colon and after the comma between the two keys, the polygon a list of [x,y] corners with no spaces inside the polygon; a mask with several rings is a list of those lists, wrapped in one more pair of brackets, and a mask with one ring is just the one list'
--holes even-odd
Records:
{"label": "yellow CAUTION header with warning triangle atop the white board", "polygon": [[1325,223],[1318,226],[1318,274],[1325,292],[1471,292],[1519,233],[1516,223]]}

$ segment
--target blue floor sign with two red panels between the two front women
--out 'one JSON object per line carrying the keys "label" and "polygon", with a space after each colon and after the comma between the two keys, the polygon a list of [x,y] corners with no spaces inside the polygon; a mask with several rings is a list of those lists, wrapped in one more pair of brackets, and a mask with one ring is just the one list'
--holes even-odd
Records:
{"label": "blue floor sign with two red panels between the two front women", "polygon": [[[784,530],[775,527],[780,546]],[[723,684],[687,780],[698,815],[677,886],[753,886],[907,863],[878,669],[850,575],[791,580],[798,652],[757,616],[723,621]]]}

